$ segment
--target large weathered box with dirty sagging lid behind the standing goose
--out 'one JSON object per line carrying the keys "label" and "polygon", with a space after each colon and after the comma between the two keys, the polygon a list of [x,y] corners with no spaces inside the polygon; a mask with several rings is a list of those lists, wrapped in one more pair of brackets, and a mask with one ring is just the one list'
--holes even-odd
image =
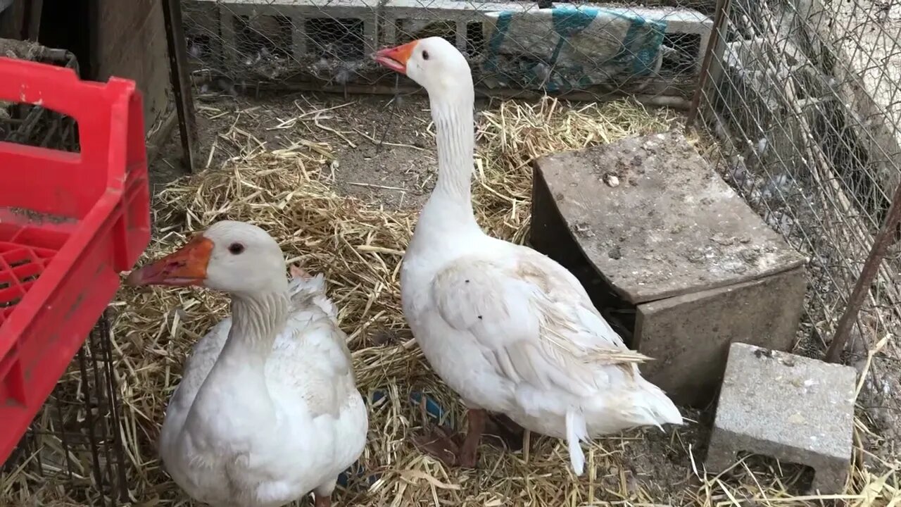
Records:
{"label": "large weathered box with dirty sagging lid behind the standing goose", "polygon": [[655,359],[642,373],[674,401],[714,400],[733,341],[792,346],[805,258],[681,134],[533,167],[532,245],[576,274],[602,312],[617,310],[626,343]]}

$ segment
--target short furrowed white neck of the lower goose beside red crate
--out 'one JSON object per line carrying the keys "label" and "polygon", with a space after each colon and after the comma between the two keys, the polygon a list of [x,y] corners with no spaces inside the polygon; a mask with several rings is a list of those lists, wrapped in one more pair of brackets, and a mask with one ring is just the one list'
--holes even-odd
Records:
{"label": "short furrowed white neck of the lower goose beside red crate", "polygon": [[272,414],[265,367],[287,322],[288,304],[287,291],[232,296],[232,327],[197,392],[199,410],[236,410],[248,424]]}

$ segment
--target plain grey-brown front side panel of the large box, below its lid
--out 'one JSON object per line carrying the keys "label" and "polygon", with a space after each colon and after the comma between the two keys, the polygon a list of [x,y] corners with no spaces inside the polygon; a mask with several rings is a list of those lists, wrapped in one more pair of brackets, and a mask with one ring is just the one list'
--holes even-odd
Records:
{"label": "plain grey-brown front side panel of the large box, below its lid", "polygon": [[638,305],[633,346],[648,381],[680,405],[714,400],[733,342],[789,350],[804,309],[803,267]]}

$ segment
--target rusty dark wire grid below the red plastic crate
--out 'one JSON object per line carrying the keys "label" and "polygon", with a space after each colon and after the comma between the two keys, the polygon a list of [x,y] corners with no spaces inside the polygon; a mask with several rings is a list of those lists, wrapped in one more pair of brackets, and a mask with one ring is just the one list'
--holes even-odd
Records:
{"label": "rusty dark wire grid below the red plastic crate", "polygon": [[[16,480],[25,483],[16,488],[21,494],[51,488],[60,498],[84,505],[128,502],[120,411],[105,314],[6,461],[4,473],[18,472]],[[9,500],[28,504],[25,497]]]}

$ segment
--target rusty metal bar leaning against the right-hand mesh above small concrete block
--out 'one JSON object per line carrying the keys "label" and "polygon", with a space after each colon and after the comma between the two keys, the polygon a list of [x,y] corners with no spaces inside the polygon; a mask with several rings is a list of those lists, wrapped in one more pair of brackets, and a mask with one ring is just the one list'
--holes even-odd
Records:
{"label": "rusty metal bar leaning against the right-hand mesh above small concrete block", "polygon": [[[848,304],[842,318],[839,319],[838,327],[835,328],[835,335],[829,349],[826,350],[826,361],[837,363],[842,357],[842,351],[848,342],[848,336],[851,335],[851,324],[857,318],[863,300],[869,292],[869,286],[876,277],[879,270],[879,263],[886,256],[886,251],[891,244],[898,240],[898,226],[901,224],[901,185],[895,188],[895,194],[892,196],[892,205],[888,208],[886,221],[879,229],[878,234],[873,238],[873,246],[869,249],[867,261],[863,264],[860,276],[854,284],[854,290],[851,291],[851,297],[848,298]],[[866,345],[866,344],[864,344]]]}

